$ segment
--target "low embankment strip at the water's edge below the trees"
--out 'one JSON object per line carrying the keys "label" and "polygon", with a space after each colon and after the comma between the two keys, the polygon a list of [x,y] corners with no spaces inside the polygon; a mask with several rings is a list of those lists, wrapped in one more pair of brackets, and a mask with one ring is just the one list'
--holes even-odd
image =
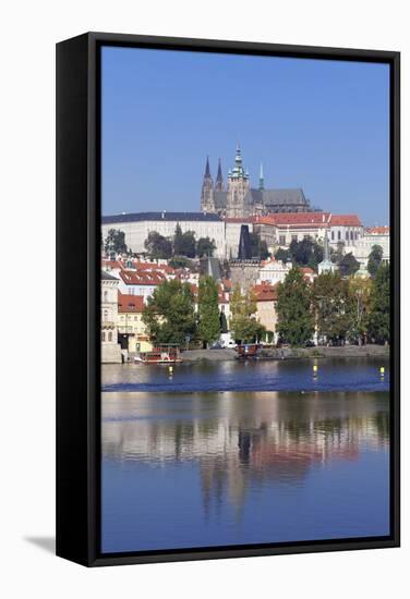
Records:
{"label": "low embankment strip at the water's edge below the trees", "polygon": [[[342,345],[339,347],[263,347],[260,359],[301,359],[301,358],[354,358],[354,357],[388,357],[390,349],[387,345]],[[181,354],[183,362],[226,362],[238,357],[234,350],[189,350]]]}

